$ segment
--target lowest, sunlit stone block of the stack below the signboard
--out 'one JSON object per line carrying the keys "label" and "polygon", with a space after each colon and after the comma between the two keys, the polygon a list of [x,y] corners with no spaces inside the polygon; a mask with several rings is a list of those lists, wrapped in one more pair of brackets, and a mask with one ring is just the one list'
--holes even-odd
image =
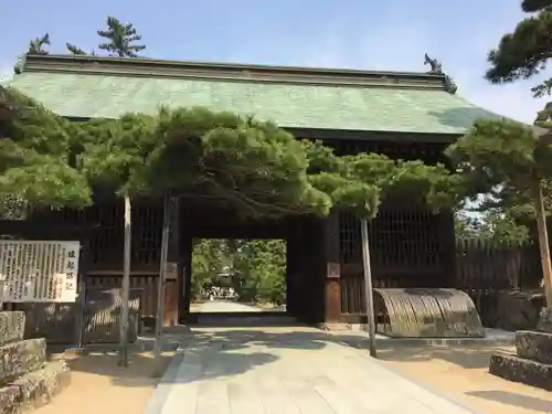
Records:
{"label": "lowest, sunlit stone block of the stack below the signboard", "polygon": [[70,382],[65,361],[47,362],[44,368],[0,388],[0,414],[19,414],[47,404]]}

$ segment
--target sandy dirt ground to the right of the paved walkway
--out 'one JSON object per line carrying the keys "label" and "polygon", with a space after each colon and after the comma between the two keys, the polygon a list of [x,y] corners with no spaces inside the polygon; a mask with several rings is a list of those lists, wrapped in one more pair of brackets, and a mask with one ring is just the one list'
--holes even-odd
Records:
{"label": "sandy dirt ground to the right of the paved walkway", "polygon": [[381,350],[379,358],[406,376],[426,383],[482,414],[552,413],[552,392],[488,373],[492,351],[510,348],[405,348]]}

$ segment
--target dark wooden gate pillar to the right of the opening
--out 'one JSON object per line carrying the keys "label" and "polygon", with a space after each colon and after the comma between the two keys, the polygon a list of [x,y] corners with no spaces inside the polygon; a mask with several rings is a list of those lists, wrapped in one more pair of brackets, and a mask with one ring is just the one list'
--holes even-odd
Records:
{"label": "dark wooden gate pillar to the right of the opening", "polygon": [[323,309],[325,323],[337,323],[341,319],[341,276],[339,213],[332,212],[323,220]]}

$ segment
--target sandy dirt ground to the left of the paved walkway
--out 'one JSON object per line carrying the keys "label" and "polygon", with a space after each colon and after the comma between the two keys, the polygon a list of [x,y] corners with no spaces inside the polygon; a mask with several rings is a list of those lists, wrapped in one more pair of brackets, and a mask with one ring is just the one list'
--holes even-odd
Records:
{"label": "sandy dirt ground to the left of the paved walkway", "polygon": [[[153,355],[134,354],[128,369],[117,368],[114,354],[66,358],[71,365],[71,385],[36,414],[142,414],[158,384],[150,378]],[[163,355],[168,364],[171,353]]]}

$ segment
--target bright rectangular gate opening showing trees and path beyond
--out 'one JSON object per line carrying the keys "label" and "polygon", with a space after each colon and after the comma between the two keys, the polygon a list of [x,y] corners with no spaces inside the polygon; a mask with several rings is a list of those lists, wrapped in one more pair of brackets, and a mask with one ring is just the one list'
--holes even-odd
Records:
{"label": "bright rectangular gate opening showing trees and path beyond", "polygon": [[191,314],[286,312],[286,241],[193,240]]}

